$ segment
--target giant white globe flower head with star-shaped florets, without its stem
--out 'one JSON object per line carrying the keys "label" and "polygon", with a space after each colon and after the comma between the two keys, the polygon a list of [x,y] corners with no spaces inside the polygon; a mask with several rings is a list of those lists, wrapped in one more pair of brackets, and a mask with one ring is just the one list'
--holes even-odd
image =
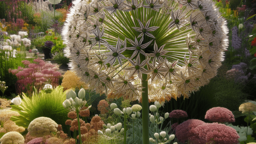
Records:
{"label": "giant white globe flower head with star-shaped florets, without its stem", "polygon": [[208,84],[228,28],[212,0],[74,0],[63,39],[71,70],[108,98],[170,100]]}

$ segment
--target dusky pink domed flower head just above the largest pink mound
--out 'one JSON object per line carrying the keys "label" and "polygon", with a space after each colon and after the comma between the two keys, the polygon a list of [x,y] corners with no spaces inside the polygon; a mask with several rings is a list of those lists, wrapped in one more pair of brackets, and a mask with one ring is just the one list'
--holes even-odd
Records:
{"label": "dusky pink domed flower head just above the largest pink mound", "polygon": [[224,107],[213,107],[210,110],[206,112],[206,115],[204,117],[205,119],[208,119],[211,122],[235,122],[234,114]]}

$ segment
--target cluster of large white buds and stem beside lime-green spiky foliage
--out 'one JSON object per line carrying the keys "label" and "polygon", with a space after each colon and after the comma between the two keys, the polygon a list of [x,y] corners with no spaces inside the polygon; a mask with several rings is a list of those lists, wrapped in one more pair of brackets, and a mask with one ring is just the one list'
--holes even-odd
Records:
{"label": "cluster of large white buds and stem beside lime-green spiky foliage", "polygon": [[[78,96],[78,97],[77,97]],[[85,90],[80,89],[78,92],[78,95],[73,90],[69,90],[66,92],[66,100],[62,103],[63,107],[66,108],[68,111],[75,111],[76,116],[78,119],[78,133],[79,133],[79,143],[82,144],[81,139],[81,131],[80,131],[80,120],[79,120],[79,111],[81,111],[82,108],[86,105],[86,100],[83,100],[85,98]],[[88,108],[83,109],[82,111],[86,111],[91,106],[86,106]]]}

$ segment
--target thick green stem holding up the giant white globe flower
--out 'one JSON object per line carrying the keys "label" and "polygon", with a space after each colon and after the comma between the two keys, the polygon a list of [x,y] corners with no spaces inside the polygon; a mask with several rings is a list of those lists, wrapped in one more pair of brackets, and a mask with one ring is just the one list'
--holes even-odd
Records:
{"label": "thick green stem holding up the giant white globe flower", "polygon": [[143,144],[149,144],[149,102],[148,102],[148,81],[146,74],[142,74],[142,137]]}

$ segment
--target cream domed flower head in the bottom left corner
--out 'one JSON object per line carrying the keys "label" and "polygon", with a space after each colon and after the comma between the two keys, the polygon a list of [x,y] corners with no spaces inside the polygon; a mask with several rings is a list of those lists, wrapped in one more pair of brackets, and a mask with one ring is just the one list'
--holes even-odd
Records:
{"label": "cream domed flower head in the bottom left corner", "polygon": [[8,132],[0,139],[1,144],[24,144],[24,137],[18,132]]}

